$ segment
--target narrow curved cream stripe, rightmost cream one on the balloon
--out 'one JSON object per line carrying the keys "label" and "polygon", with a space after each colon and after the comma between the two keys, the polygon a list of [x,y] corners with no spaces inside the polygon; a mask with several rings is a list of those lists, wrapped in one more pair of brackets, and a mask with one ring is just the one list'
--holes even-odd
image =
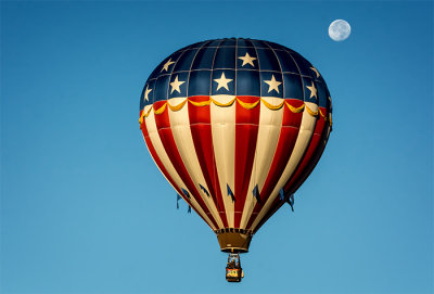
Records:
{"label": "narrow curved cream stripe, rightmost cream one on the balloon", "polygon": [[[310,102],[305,102],[306,106],[308,106],[312,112],[318,110],[318,105]],[[271,208],[271,204],[275,199],[279,195],[280,189],[284,187],[290,177],[294,174],[295,168],[298,166],[298,163],[303,158],[307,148],[309,146],[310,139],[315,131],[315,126],[317,123],[317,117],[311,116],[307,111],[303,112],[302,125],[299,126],[299,132],[297,136],[297,140],[295,141],[294,150],[292,151],[290,161],[286,164],[285,169],[283,170],[282,176],[280,177],[275,190],[271,192],[269,199],[265,203],[264,207],[260,209],[258,216],[252,225],[252,230],[255,230],[256,226],[259,221],[265,217],[268,210]]]}

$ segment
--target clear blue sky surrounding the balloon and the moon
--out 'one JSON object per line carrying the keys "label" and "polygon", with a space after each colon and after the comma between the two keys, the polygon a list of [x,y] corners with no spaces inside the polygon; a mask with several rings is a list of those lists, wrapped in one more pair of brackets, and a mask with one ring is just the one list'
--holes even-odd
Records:
{"label": "clear blue sky surrounding the balloon and the moon", "polygon": [[[240,284],[138,124],[154,67],[220,37],[298,51],[334,106]],[[1,293],[433,293],[433,231],[432,2],[1,2]]]}

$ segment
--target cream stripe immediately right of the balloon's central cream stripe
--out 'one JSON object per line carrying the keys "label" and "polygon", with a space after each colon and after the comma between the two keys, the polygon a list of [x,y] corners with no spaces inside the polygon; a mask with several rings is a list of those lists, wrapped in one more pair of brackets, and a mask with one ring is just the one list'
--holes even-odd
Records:
{"label": "cream stripe immediately right of the balloon's central cream stripe", "polygon": [[[280,98],[263,98],[272,105],[281,103]],[[256,197],[253,196],[253,189],[258,186],[259,192],[263,190],[265,180],[269,174],[273,154],[276,152],[279,135],[283,119],[283,107],[277,111],[269,110],[264,103],[260,105],[258,137],[256,141],[255,159],[252,167],[251,182],[248,192],[244,203],[243,215],[240,222],[240,228],[245,229],[247,221],[252,216],[253,208],[256,204]]]}

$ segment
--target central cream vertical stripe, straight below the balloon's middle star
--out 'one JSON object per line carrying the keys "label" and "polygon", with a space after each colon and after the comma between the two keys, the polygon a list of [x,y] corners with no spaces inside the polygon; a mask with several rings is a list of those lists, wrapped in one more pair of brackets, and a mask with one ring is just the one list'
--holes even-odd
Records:
{"label": "central cream vertical stripe, straight below the balloon's middle star", "polygon": [[[220,103],[228,103],[233,95],[212,97]],[[231,106],[221,107],[210,103],[210,124],[213,133],[214,155],[218,180],[220,183],[221,196],[225,203],[228,226],[234,226],[234,203],[228,196],[227,184],[234,192],[235,179],[235,103]],[[237,195],[235,195],[237,196]]]}

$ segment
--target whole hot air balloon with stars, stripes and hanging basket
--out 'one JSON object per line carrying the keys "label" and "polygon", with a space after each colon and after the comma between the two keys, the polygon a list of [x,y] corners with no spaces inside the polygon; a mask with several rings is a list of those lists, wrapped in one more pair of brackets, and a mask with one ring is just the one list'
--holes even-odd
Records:
{"label": "whole hot air balloon with stars, stripes and hanging basket", "polygon": [[241,281],[238,254],[284,203],[293,206],[326,148],[332,104],[324,79],[297,52],[215,39],[154,69],[139,122],[162,174],[230,253],[227,280]]}

